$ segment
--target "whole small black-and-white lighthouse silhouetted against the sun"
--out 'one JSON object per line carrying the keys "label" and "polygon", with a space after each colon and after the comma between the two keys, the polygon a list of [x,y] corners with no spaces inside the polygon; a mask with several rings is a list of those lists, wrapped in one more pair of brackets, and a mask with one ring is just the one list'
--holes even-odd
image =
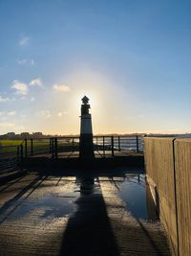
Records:
{"label": "whole small black-and-white lighthouse silhouetted against the sun", "polygon": [[81,101],[79,157],[94,158],[92,116],[89,113],[89,99],[84,96]]}

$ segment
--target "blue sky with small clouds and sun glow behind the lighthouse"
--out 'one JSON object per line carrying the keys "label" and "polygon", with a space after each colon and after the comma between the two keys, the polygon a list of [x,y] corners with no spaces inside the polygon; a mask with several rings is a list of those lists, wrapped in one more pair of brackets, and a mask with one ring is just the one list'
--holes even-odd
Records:
{"label": "blue sky with small clouds and sun glow behind the lighthouse", "polygon": [[191,132],[190,0],[0,0],[0,134]]}

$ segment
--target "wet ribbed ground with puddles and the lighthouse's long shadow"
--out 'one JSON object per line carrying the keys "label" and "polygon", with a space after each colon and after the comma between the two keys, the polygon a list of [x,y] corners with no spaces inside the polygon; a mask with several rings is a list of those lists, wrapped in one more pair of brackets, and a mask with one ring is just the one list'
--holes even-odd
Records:
{"label": "wet ribbed ground with puddles and the lighthouse's long shadow", "polygon": [[169,255],[140,172],[29,173],[0,191],[0,255]]}

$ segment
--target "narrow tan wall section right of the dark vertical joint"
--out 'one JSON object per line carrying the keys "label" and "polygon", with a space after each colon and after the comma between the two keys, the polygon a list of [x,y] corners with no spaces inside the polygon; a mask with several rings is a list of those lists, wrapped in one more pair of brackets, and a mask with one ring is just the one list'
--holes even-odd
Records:
{"label": "narrow tan wall section right of the dark vertical joint", "polygon": [[191,255],[191,139],[175,142],[180,256]]}

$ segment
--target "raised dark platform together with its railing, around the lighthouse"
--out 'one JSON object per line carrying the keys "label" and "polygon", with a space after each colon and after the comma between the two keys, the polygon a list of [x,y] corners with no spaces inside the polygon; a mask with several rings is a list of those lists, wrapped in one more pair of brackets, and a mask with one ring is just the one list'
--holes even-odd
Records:
{"label": "raised dark platform together with its railing, around the lighthouse", "polygon": [[142,136],[93,136],[94,157],[81,158],[79,137],[25,140],[17,149],[22,167],[143,166]]}

